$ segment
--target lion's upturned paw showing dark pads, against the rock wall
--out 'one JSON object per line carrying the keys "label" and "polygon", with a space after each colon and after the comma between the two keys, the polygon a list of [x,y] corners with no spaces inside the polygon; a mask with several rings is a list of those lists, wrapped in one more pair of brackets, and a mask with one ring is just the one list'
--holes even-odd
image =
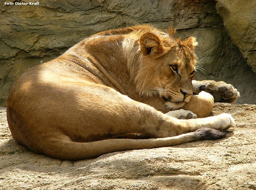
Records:
{"label": "lion's upturned paw showing dark pads, against the rock wall", "polygon": [[206,91],[214,97],[214,102],[229,102],[234,103],[240,93],[232,85],[226,84],[223,81],[213,82],[199,87],[200,91]]}

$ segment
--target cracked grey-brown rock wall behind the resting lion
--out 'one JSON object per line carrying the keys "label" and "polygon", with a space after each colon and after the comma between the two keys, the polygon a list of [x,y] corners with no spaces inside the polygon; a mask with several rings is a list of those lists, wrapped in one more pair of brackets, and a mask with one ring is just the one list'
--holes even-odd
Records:
{"label": "cracked grey-brown rock wall behind the resting lion", "polygon": [[40,0],[38,6],[1,1],[0,105],[6,105],[12,83],[30,67],[56,58],[96,32],[145,23],[176,27],[182,39],[196,36],[198,62],[205,69],[196,79],[234,84],[241,93],[238,103],[254,104],[254,0],[218,1],[216,5],[212,0]]}

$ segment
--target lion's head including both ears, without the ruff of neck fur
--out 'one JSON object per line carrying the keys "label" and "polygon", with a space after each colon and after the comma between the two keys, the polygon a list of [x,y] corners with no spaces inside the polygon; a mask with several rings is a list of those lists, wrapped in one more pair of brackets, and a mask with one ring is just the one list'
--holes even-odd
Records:
{"label": "lion's head including both ears, without the ruff of neck fur", "polygon": [[142,68],[147,71],[146,78],[150,80],[147,89],[159,94],[169,108],[181,108],[193,94],[191,81],[195,75],[195,38],[180,41],[170,36],[155,35],[153,39],[150,34],[149,38],[144,39],[146,46],[143,46],[142,38]]}

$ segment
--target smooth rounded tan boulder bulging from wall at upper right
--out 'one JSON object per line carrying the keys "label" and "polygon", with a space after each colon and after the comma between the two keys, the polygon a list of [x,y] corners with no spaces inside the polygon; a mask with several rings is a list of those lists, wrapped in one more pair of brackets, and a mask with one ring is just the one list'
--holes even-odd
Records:
{"label": "smooth rounded tan boulder bulging from wall at upper right", "polygon": [[217,0],[217,12],[232,42],[256,72],[256,3],[254,0]]}

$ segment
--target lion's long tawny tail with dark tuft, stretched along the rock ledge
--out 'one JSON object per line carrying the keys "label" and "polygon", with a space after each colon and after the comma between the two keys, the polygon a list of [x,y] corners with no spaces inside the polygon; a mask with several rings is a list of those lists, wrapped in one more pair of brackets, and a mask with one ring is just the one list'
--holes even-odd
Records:
{"label": "lion's long tawny tail with dark tuft, stretched along the rock ledge", "polygon": [[[94,158],[102,154],[143,148],[174,146],[195,140],[220,139],[226,133],[211,128],[201,128],[195,132],[158,139],[106,139],[93,142],[74,142],[64,139],[45,139],[42,144],[44,154],[59,159],[79,160]],[[46,148],[47,147],[47,148]]]}

